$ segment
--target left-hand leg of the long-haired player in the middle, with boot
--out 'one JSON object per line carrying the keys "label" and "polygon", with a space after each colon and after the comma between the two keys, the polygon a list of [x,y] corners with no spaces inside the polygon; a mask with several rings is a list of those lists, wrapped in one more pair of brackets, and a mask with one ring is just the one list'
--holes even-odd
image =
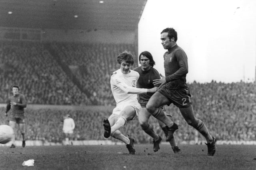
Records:
{"label": "left-hand leg of the long-haired player in the middle, with boot", "polygon": [[138,114],[138,120],[142,130],[153,138],[153,150],[156,152],[160,149],[159,144],[162,138],[153,130],[153,126],[148,123],[150,116],[151,114],[147,111],[146,107],[142,107]]}

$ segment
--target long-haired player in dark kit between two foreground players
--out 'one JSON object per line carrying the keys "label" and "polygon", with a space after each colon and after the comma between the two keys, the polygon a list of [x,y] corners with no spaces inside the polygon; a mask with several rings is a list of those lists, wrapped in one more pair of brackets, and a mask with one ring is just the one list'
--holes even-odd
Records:
{"label": "long-haired player in dark kit between two foreground players", "polygon": [[[155,68],[153,68],[153,66],[155,65],[155,61],[151,53],[148,51],[140,53],[139,61],[141,66],[134,68],[134,71],[140,74],[140,77],[137,82],[137,87],[153,88],[153,80],[160,79],[161,77],[159,72]],[[153,150],[154,152],[157,152],[160,149],[159,144],[162,141],[162,138],[153,130],[153,126],[148,123],[151,114],[146,109],[146,104],[148,103],[148,100],[152,95],[153,94],[138,94],[138,102],[142,107],[138,114],[138,120],[142,129],[153,138]],[[164,131],[164,134],[167,136],[168,130],[166,128],[166,125],[159,120],[158,123],[162,130]],[[180,152],[180,149],[176,145],[174,138],[172,138],[169,142],[174,153]]]}

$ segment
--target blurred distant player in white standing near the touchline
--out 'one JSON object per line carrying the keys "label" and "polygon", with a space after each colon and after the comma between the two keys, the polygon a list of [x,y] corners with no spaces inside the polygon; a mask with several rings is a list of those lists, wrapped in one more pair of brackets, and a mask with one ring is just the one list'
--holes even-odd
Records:
{"label": "blurred distant player in white standing near the touchline", "polygon": [[65,135],[65,145],[73,145],[70,139],[72,138],[75,127],[74,119],[72,119],[69,114],[65,115],[62,128]]}

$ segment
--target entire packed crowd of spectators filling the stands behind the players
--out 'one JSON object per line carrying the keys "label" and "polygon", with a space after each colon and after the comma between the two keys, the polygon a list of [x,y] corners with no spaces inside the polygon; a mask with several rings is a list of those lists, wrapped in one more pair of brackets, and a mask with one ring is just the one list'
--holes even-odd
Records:
{"label": "entire packed crowd of spectators filling the stands behind the players", "polygon": [[[5,103],[13,84],[20,85],[28,104],[114,106],[110,75],[118,69],[116,56],[124,50],[133,54],[134,46],[126,44],[51,43],[61,63],[44,43],[0,41],[0,103]],[[135,56],[135,55],[134,55]],[[60,64],[72,68],[80,87],[72,82]],[[73,67],[72,67],[73,66]],[[136,64],[135,64],[136,66]],[[76,69],[74,69],[76,68]],[[217,140],[256,140],[256,84],[246,82],[188,83],[196,117],[207,125]],[[81,88],[82,87],[82,88]],[[1,108],[1,113],[5,108]],[[187,125],[180,111],[171,105],[167,112],[179,125],[178,141],[204,141],[202,135]],[[76,122],[74,139],[102,140],[102,119],[111,111],[26,109],[28,139],[62,140],[62,115],[70,114]],[[1,123],[4,122],[3,114]],[[162,137],[158,123],[150,119]],[[121,130],[137,142],[151,139],[134,120]]]}

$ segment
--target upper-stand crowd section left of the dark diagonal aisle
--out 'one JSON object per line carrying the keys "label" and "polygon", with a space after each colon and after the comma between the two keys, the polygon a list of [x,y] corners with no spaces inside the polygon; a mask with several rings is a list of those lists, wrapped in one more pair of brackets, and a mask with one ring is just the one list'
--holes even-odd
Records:
{"label": "upper-stand crowd section left of the dark diagonal aisle", "polygon": [[42,43],[0,42],[0,103],[18,84],[29,104],[91,104]]}

